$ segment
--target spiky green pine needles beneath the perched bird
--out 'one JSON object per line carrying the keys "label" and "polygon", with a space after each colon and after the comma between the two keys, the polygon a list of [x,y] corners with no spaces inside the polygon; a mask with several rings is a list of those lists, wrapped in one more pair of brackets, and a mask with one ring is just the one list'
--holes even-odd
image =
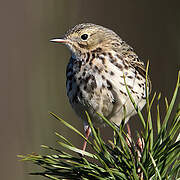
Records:
{"label": "spiky green pine needles beneath the perched bird", "polygon": [[[55,119],[63,123],[66,127],[76,132],[92,147],[93,152],[84,152],[69,142],[65,137],[56,133],[61,141],[59,145],[76,152],[73,156],[71,153],[61,151],[49,146],[42,146],[55,155],[25,155],[19,156],[25,161],[30,161],[41,166],[42,172],[31,173],[33,175],[41,175],[49,179],[122,179],[122,180],[164,180],[180,178],[180,103],[174,117],[170,118],[174,109],[174,103],[178,94],[180,72],[176,88],[172,99],[166,102],[166,113],[164,118],[160,115],[160,94],[157,96],[157,117],[151,117],[151,109],[156,99],[156,94],[151,101],[147,96],[147,116],[143,117],[134,103],[131,94],[128,94],[137,110],[138,116],[142,122],[143,129],[139,133],[139,144],[124,132],[124,126],[119,128],[109,122],[102,115],[104,122],[114,131],[113,141],[105,143],[99,130],[97,130],[87,114],[89,125],[92,129],[93,141],[89,141],[75,127],[58,117],[54,113],[50,113]],[[157,124],[157,130],[153,129],[152,122]],[[162,122],[162,123],[161,123]],[[157,134],[155,134],[155,132]],[[155,135],[155,136],[154,136]],[[127,143],[129,142],[129,143]],[[80,155],[81,154],[81,155]],[[82,156],[83,154],[83,156]],[[88,158],[87,158],[88,157]]]}

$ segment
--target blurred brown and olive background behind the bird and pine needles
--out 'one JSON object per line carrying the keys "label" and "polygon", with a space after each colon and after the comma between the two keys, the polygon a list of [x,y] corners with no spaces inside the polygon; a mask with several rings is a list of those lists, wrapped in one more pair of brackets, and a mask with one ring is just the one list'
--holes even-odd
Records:
{"label": "blurred brown and olive background behind the bird and pine needles", "polygon": [[19,162],[17,155],[46,153],[40,145],[54,146],[55,131],[82,145],[82,139],[48,115],[53,111],[83,131],[66,97],[70,53],[50,43],[51,38],[82,22],[114,30],[140,59],[150,60],[153,92],[170,100],[180,69],[179,5],[177,0],[1,1],[1,179],[44,179],[29,176],[36,167]]}

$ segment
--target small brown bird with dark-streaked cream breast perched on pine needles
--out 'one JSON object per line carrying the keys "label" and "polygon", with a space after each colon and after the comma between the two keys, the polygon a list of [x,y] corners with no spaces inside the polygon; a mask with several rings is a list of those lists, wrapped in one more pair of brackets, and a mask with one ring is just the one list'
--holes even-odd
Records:
{"label": "small brown bird with dark-streaked cream breast perched on pine needles", "polygon": [[86,138],[91,129],[85,112],[94,126],[104,125],[99,114],[120,126],[123,120],[127,123],[137,113],[127,88],[138,109],[145,106],[151,81],[148,76],[146,90],[144,62],[114,31],[82,23],[69,29],[62,38],[50,41],[66,45],[71,52],[66,69],[67,96],[78,117],[84,121]]}

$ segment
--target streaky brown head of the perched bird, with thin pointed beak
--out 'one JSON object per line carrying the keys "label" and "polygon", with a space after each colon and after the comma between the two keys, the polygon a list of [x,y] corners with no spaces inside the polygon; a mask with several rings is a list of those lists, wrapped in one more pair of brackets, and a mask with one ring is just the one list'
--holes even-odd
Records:
{"label": "streaky brown head of the perched bird, with thin pointed beak", "polygon": [[112,40],[120,40],[113,31],[100,25],[78,24],[65,34],[63,38],[52,39],[51,42],[67,45],[73,56],[94,50],[98,47],[108,47]]}

